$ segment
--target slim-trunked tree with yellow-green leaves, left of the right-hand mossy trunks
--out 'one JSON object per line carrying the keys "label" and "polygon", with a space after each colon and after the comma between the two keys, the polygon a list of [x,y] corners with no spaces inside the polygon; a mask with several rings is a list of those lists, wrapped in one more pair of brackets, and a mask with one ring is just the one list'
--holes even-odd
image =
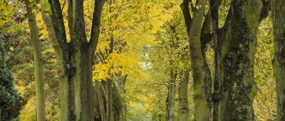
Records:
{"label": "slim-trunked tree with yellow-green leaves, left of the right-hand mossy trunks", "polygon": [[[155,80],[157,85],[167,85],[166,120],[189,119],[188,107],[188,80],[189,76],[189,51],[187,50],[187,36],[185,25],[182,23],[182,13],[175,9],[173,18],[167,21],[160,31],[157,31],[159,45],[153,45],[147,52],[150,56],[150,70],[159,76]],[[158,50],[158,51],[157,51]],[[157,71],[161,71],[162,75]],[[163,77],[163,78],[162,78]],[[160,80],[164,80],[160,82]],[[164,83],[165,82],[165,83]],[[166,83],[167,82],[167,83]],[[178,90],[177,90],[178,88]],[[175,105],[178,93],[178,117],[175,115]],[[160,94],[161,95],[161,94]],[[161,96],[160,96],[161,97]],[[161,112],[157,114],[161,118]],[[176,118],[177,117],[177,118]]]}

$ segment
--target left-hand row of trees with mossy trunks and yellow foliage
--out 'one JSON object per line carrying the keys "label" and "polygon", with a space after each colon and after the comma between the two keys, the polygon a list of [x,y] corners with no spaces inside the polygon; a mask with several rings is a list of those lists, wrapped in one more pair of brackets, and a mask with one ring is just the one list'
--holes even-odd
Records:
{"label": "left-hand row of trees with mossy trunks and yellow foliage", "polygon": [[[129,46],[131,43],[128,42],[127,44],[127,42],[125,42],[125,40],[130,39],[128,36],[133,35],[123,37],[116,35],[118,33],[115,33],[115,31],[122,31],[120,29],[126,25],[117,25],[115,27],[110,25],[113,25],[115,22],[123,21],[118,20],[118,18],[125,16],[120,15],[120,12],[113,14],[113,11],[118,10],[125,13],[134,12],[135,14],[140,14],[141,7],[148,7],[146,11],[150,11],[150,5],[141,6],[140,4],[144,4],[144,1],[121,2],[122,4],[117,8],[113,6],[113,4],[118,4],[120,3],[119,1],[108,1],[108,5],[106,5],[108,7],[105,11],[107,11],[109,17],[104,19],[105,21],[103,22],[105,23],[103,24],[103,33],[107,33],[107,36],[103,36],[103,39],[106,39],[108,44],[107,46],[98,46],[100,16],[105,1],[95,1],[95,4],[92,5],[93,14],[91,14],[91,17],[87,17],[87,19],[90,19],[90,21],[88,21],[90,23],[84,23],[84,19],[86,19],[86,9],[84,9],[83,1],[68,1],[68,16],[63,16],[66,11],[64,11],[65,9],[61,9],[60,1],[40,1],[41,16],[48,31],[48,38],[51,40],[51,44],[56,53],[58,78],[61,83],[59,94],[61,97],[60,120],[126,120],[126,105],[122,96],[125,92],[124,82],[127,77],[125,71],[128,72],[128,68],[124,68],[125,63],[121,61],[113,61],[122,58],[120,56],[118,57],[118,53],[124,55],[126,48],[134,48],[133,46]],[[39,36],[37,34],[38,27],[36,26],[35,11],[33,11],[36,10],[38,3],[37,1],[25,1],[25,3],[31,29],[31,40],[32,42],[36,41],[39,43]],[[63,6],[64,5],[65,4],[63,4]],[[133,9],[133,7],[135,8]],[[130,11],[130,8],[132,8],[131,10],[133,11]],[[88,9],[88,11],[90,10]],[[142,24],[137,24],[138,22],[147,21],[141,18],[131,20],[128,20],[128,18],[124,19],[133,22],[133,24],[127,23],[127,26],[130,26],[129,28]],[[66,20],[68,21],[68,26],[66,26]],[[90,31],[86,28],[89,24]],[[147,26],[142,26],[141,28],[144,27]],[[140,31],[140,28],[138,28],[138,30]],[[150,32],[151,31],[153,30],[150,30]],[[143,30],[142,32],[147,33],[148,31]],[[141,34],[144,35],[145,33],[142,32]],[[138,34],[138,31],[131,34]],[[34,48],[35,50],[41,49],[38,44],[36,44]],[[95,53],[95,50],[98,52]],[[41,63],[40,56],[41,54],[38,55],[38,59],[34,59],[34,64],[36,64],[36,60],[38,60],[38,63]],[[106,63],[108,63],[108,65],[106,65]],[[39,66],[41,66],[41,64],[39,64]],[[100,71],[94,70],[95,72],[93,73],[93,66],[100,68]],[[42,71],[42,67],[35,68],[35,77],[43,77],[40,73]],[[97,80],[95,81],[95,90],[93,88],[93,75],[95,75],[95,79],[103,80],[102,83],[97,82]],[[36,81],[36,87],[41,87],[41,90],[36,90],[37,120],[45,120],[45,102],[44,100],[39,100],[39,98],[44,98],[43,84],[41,82],[41,79]],[[114,106],[113,103],[115,104]],[[96,110],[95,107],[97,107]]]}

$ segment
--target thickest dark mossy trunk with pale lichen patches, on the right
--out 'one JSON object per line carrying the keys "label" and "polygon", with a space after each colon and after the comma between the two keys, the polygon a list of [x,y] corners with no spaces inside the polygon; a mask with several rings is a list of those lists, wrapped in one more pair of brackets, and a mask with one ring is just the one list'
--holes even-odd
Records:
{"label": "thickest dark mossy trunk with pale lichen patches, on the right", "polygon": [[254,53],[261,6],[261,0],[232,1],[231,23],[222,47],[219,120],[254,120]]}

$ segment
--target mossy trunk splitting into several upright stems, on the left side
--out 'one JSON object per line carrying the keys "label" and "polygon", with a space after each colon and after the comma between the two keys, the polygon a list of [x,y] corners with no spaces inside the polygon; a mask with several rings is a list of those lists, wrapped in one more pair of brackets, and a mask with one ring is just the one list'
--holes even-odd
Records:
{"label": "mossy trunk splitting into several upright stems, on the left side", "polygon": [[[44,3],[42,3],[44,4]],[[71,42],[66,39],[63,13],[58,0],[49,0],[51,11],[42,10],[43,20],[58,63],[61,79],[60,120],[93,120],[94,93],[92,65],[100,31],[104,1],[95,1],[90,40],[86,38],[83,0],[68,1],[68,28]],[[51,16],[46,16],[46,13]]]}

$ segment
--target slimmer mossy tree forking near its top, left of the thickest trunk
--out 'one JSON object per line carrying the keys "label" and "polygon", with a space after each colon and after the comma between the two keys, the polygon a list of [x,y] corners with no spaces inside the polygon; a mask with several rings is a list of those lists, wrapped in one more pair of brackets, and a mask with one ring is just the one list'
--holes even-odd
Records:
{"label": "slimmer mossy tree forking near its top, left of the thickest trunk", "polygon": [[[189,36],[191,68],[194,81],[194,100],[195,100],[195,120],[210,120],[211,107],[209,106],[208,88],[211,86],[207,82],[207,71],[204,71],[205,58],[202,55],[202,20],[206,1],[197,1],[191,19],[189,11],[190,2],[185,0],[181,4],[185,25]],[[206,21],[207,22],[207,21]]]}

